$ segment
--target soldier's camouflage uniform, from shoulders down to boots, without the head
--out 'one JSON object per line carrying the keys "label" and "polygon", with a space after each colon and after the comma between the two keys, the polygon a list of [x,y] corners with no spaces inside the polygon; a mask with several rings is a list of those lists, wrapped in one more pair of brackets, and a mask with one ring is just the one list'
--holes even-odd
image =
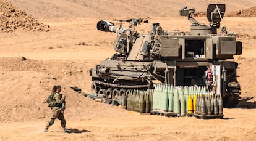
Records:
{"label": "soldier's camouflage uniform, from shoulders down to boots, without the head", "polygon": [[51,116],[51,120],[46,124],[45,132],[47,132],[48,128],[53,125],[56,118],[61,121],[61,127],[64,129],[64,132],[66,132],[66,120],[62,113],[62,111],[65,109],[65,106],[62,107],[62,105],[65,104],[65,97],[62,97],[62,94],[56,92],[53,100],[56,102],[56,104],[53,108],[51,108],[53,115]]}

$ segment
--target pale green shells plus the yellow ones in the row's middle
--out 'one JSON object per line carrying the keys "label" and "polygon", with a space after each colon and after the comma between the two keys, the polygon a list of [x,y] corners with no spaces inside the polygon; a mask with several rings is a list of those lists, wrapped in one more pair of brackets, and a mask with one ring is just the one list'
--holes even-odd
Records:
{"label": "pale green shells plus the yellow ones in the row's middle", "polygon": [[196,109],[197,95],[205,93],[205,86],[156,84],[152,112],[171,112],[178,116],[192,114]]}

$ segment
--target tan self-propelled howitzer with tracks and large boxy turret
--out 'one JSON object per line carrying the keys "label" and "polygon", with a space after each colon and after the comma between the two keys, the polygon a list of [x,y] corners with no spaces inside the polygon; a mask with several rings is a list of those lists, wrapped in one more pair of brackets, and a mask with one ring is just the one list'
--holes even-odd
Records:
{"label": "tan self-propelled howitzer with tracks and large boxy turret", "polygon": [[[190,33],[165,31],[159,23],[153,23],[148,34],[140,34],[135,26],[147,23],[145,19],[119,20],[121,25],[101,20],[97,29],[117,34],[114,54],[90,70],[92,92],[105,94],[116,99],[129,89],[151,89],[155,83],[174,86],[205,86],[222,94],[224,105],[236,105],[240,85],[236,79],[237,63],[233,55],[242,54],[242,42],[236,41],[236,34],[222,27],[217,29],[224,17],[224,4],[210,4],[207,18],[210,25],[197,22],[192,17],[194,9],[184,7],[181,16],[187,16]],[[128,22],[124,29],[122,22]],[[211,69],[212,78],[205,75]]]}

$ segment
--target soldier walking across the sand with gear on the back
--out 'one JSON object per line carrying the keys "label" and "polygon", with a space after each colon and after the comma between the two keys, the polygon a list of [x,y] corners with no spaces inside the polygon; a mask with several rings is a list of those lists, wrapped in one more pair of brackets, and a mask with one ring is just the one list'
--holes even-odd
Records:
{"label": "soldier walking across the sand with gear on the back", "polygon": [[51,110],[53,111],[53,116],[51,117],[51,120],[46,124],[45,132],[48,132],[48,128],[53,125],[56,118],[58,118],[61,121],[61,127],[63,128],[64,132],[69,132],[66,129],[66,120],[64,118],[64,111],[65,109],[65,97],[66,95],[61,94],[61,86],[54,86],[53,87],[53,106],[51,107]]}

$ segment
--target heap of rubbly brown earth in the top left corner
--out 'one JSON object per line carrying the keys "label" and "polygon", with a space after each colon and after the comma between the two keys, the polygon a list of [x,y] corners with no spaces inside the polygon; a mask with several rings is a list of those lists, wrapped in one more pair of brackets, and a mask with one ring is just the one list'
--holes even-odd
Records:
{"label": "heap of rubbly brown earth in the top left corner", "polygon": [[12,32],[19,28],[26,31],[49,31],[49,26],[38,22],[11,2],[0,2],[0,31]]}

